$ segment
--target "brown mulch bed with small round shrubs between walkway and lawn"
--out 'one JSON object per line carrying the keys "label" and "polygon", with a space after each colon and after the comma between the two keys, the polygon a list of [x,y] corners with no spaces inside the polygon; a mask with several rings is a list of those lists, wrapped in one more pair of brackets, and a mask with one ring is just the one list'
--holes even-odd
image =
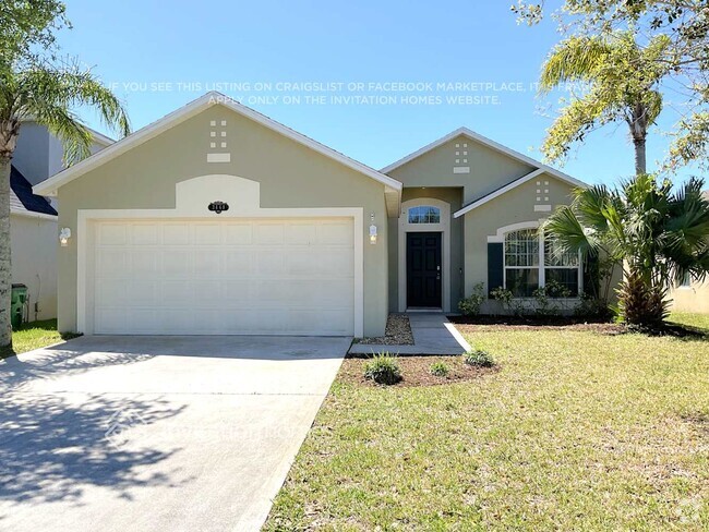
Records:
{"label": "brown mulch bed with small round shrubs between walkway and lawn", "polygon": [[[448,366],[450,372],[446,377],[431,375],[431,364],[435,362],[443,362]],[[477,380],[485,375],[500,371],[498,366],[469,366],[462,361],[462,356],[399,356],[398,363],[404,379],[392,385],[394,387],[438,386],[443,384],[464,383],[467,380]],[[366,364],[366,359],[345,359],[339,372],[339,378],[347,383],[361,386],[382,386],[364,378],[364,364]]]}

